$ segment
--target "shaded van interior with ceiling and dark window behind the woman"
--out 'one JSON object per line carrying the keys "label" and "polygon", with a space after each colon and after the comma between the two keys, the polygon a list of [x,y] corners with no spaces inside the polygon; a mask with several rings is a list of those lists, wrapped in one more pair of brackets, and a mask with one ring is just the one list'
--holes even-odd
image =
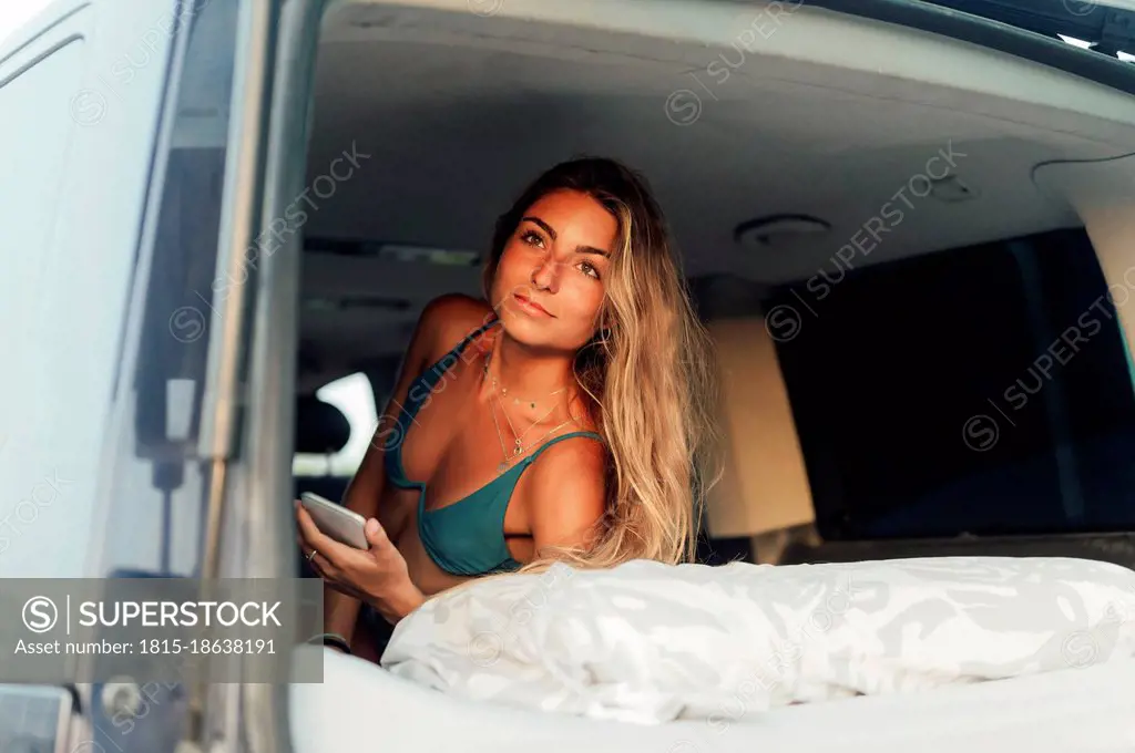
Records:
{"label": "shaded van interior with ceiling and dark window behind the woman", "polygon": [[340,497],[527,181],[608,155],[717,347],[703,561],[1135,561],[1129,93],[810,3],[632,0],[340,3],[312,86],[296,491]]}

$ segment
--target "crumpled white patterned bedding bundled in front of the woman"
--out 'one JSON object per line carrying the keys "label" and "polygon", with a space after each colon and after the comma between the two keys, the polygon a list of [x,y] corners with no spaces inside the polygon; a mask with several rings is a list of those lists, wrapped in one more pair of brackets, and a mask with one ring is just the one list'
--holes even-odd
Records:
{"label": "crumpled white patterned bedding bundled in front of the woman", "polygon": [[470,700],[644,724],[1069,670],[1135,655],[1135,573],[1067,558],[553,566],[444,593],[393,674]]}

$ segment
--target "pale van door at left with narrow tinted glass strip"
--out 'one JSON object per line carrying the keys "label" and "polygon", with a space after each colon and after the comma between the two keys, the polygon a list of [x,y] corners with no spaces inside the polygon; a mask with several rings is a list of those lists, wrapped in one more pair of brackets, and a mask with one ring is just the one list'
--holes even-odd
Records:
{"label": "pale van door at left with narrow tinted glass strip", "polygon": [[[65,0],[0,50],[0,577],[218,574],[277,12]],[[235,748],[224,692],[0,686],[0,748]]]}

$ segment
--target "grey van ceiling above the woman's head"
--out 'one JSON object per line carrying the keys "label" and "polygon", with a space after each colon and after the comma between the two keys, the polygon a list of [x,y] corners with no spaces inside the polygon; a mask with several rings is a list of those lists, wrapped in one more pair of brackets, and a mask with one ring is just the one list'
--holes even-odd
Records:
{"label": "grey van ceiling above the woman's head", "polygon": [[[486,5],[491,16],[470,11]],[[983,48],[809,7],[777,19],[759,3],[599,5],[338,6],[318,53],[309,186],[344,150],[369,156],[311,197],[305,235],[481,253],[528,180],[602,154],[646,174],[690,277],[770,285],[833,269],[888,202],[903,218],[857,266],[1079,225],[1033,168],[1135,152],[1135,100]],[[975,197],[897,200],[940,152]],[[774,214],[831,230],[734,242],[739,223]],[[449,290],[476,295],[479,270],[308,254],[305,298],[409,305],[305,310],[303,353],[321,372],[396,356],[420,306]]]}

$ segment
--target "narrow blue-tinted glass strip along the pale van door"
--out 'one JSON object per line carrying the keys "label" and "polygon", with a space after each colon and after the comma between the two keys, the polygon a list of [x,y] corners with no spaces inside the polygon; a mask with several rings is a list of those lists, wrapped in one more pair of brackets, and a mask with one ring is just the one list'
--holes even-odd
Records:
{"label": "narrow blue-tinted glass strip along the pale van door", "polygon": [[[140,266],[116,405],[106,574],[199,573],[211,460],[199,442],[212,319],[234,285],[218,279],[239,3],[186,12],[188,49],[152,251]],[[251,277],[249,278],[252,279]],[[251,289],[250,289],[251,293]]]}

